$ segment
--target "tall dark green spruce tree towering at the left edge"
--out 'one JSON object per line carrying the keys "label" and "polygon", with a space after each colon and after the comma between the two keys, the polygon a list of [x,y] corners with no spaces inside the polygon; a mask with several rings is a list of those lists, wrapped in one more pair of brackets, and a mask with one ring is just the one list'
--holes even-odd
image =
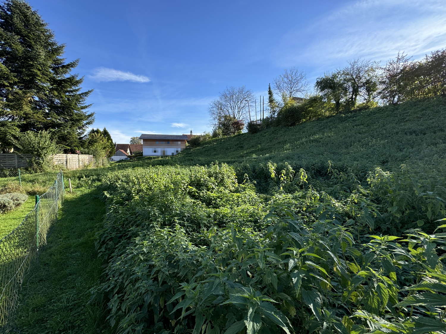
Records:
{"label": "tall dark green spruce tree towering at the left edge", "polygon": [[9,151],[25,131],[49,130],[67,151],[81,147],[83,133],[94,122],[81,92],[83,77],[70,72],[65,45],[41,16],[22,0],[0,4],[0,149]]}

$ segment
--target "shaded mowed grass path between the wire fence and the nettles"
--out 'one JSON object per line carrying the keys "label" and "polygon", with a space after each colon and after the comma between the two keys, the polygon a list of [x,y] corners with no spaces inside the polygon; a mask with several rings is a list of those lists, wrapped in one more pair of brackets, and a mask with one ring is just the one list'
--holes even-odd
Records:
{"label": "shaded mowed grass path between the wire fence and the nettles", "polygon": [[105,308],[89,303],[101,261],[95,229],[105,206],[99,192],[66,192],[60,218],[32,276],[23,282],[15,325],[21,333],[109,333]]}

